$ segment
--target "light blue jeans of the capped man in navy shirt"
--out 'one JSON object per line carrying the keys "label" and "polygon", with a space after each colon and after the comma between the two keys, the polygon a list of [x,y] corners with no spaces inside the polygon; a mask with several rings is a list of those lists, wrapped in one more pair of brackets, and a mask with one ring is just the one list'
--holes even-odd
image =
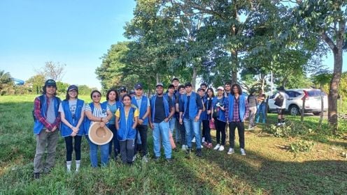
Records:
{"label": "light blue jeans of the capped man in navy shirt", "polygon": [[171,144],[169,140],[169,122],[154,123],[153,145],[155,157],[160,157],[160,135],[162,136],[162,144],[167,159],[171,159]]}

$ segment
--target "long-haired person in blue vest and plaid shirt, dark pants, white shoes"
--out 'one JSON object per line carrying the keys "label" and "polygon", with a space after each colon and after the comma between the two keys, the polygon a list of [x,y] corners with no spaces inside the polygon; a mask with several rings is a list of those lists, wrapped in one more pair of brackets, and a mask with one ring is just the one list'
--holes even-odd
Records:
{"label": "long-haired person in blue vest and plaid shirt, dark pants, white shoes", "polygon": [[228,96],[229,111],[229,142],[230,148],[228,155],[234,153],[235,129],[239,132],[239,143],[241,155],[246,155],[245,151],[245,126],[243,122],[248,118],[249,108],[248,101],[245,95],[242,94],[242,89],[239,84],[232,85],[232,93]]}

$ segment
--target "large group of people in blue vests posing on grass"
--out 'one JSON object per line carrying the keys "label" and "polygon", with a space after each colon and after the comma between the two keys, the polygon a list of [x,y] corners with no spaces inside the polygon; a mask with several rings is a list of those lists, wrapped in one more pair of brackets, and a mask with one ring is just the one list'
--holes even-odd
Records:
{"label": "large group of people in blue vests posing on grass", "polygon": [[[143,93],[143,85],[135,84],[134,92],[127,93],[110,89],[106,93],[106,102],[101,102],[101,93],[92,91],[92,102],[85,104],[78,99],[78,86],[71,85],[64,100],[57,98],[57,85],[48,79],[43,86],[43,95],[34,100],[34,134],[36,134],[36,154],[34,157],[34,178],[49,172],[55,164],[55,151],[59,139],[66,143],[66,169],[71,172],[72,153],[76,155],[76,171],[80,168],[80,144],[85,135],[90,145],[90,163],[98,166],[98,148],[101,153],[101,165],[109,159],[120,159],[125,164],[132,164],[135,154],[139,153],[143,161],[148,162],[148,127],[153,130],[154,159],[161,156],[161,145],[167,162],[171,162],[172,151],[180,144],[189,156],[193,143],[196,155],[202,156],[201,148],[213,148],[211,128],[216,130],[216,145],[213,150],[225,149],[226,129],[229,128],[229,150],[234,153],[235,130],[239,132],[241,155],[246,155],[244,121],[250,115],[250,127],[259,122],[265,123],[265,96],[251,94],[246,98],[239,84],[218,86],[217,94],[213,88],[201,84],[197,92],[192,91],[192,84],[180,85],[174,78],[165,90],[164,85],[155,86],[155,95],[148,98]],[[165,91],[165,92],[164,92]],[[118,93],[119,92],[119,93]],[[253,108],[255,107],[255,109]],[[257,110],[257,111],[256,111]],[[90,126],[98,123],[99,127],[108,127],[113,133],[109,143],[98,145],[90,138]],[[201,131],[202,129],[202,131]],[[202,135],[201,135],[202,132]],[[175,135],[175,139],[173,137]],[[43,154],[48,148],[45,163]]]}

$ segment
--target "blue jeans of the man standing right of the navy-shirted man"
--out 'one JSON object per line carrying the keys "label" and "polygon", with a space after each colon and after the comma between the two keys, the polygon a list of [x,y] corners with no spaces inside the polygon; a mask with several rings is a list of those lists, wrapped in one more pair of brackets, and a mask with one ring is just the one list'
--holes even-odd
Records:
{"label": "blue jeans of the man standing right of the navy-shirted man", "polygon": [[188,148],[192,148],[192,139],[194,136],[197,149],[201,149],[200,121],[195,122],[194,118],[184,118],[183,123],[185,125],[185,137],[187,138]]}

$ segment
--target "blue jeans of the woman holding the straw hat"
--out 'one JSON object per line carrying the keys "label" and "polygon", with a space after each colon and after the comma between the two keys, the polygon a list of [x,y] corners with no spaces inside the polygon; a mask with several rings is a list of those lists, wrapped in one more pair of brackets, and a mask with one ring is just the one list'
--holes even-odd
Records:
{"label": "blue jeans of the woman holding the straw hat", "polygon": [[[97,148],[99,145],[92,143],[90,141],[88,135],[85,136],[88,140],[89,147],[90,147],[90,163],[92,164],[92,167],[97,167],[98,165],[98,159],[97,159]],[[106,166],[108,164],[108,150],[109,150],[109,143],[106,143],[104,145],[100,146],[100,153],[101,153],[101,166]]]}

